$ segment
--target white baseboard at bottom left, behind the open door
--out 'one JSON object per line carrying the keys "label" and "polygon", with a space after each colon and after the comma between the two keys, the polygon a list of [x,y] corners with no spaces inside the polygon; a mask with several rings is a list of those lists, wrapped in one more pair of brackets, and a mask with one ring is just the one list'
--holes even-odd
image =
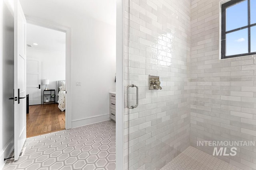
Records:
{"label": "white baseboard at bottom left, behind the open door", "polygon": [[4,161],[4,158],[9,158],[13,149],[14,149],[14,136],[12,136],[10,141],[7,143],[4,149],[0,152],[0,169],[4,167],[4,164],[6,162]]}

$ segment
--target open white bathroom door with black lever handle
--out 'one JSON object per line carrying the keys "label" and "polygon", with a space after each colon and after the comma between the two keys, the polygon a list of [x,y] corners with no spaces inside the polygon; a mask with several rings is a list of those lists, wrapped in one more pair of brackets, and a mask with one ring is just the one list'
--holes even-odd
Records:
{"label": "open white bathroom door with black lever handle", "polygon": [[14,160],[26,140],[26,18],[14,1]]}

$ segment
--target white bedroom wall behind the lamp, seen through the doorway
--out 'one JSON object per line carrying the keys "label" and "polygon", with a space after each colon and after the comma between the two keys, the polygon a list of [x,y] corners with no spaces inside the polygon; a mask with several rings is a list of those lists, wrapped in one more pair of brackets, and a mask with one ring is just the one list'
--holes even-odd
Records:
{"label": "white bedroom wall behind the lamp, seen through the doorway", "polygon": [[[64,35],[65,36],[65,35]],[[62,53],[59,52],[46,52],[33,50],[27,47],[27,58],[40,59],[42,64],[42,80],[49,79],[50,84],[47,85],[48,89],[57,89],[57,81],[66,79],[66,56],[65,49]],[[43,91],[45,84],[41,84],[42,89],[42,102],[44,100]],[[57,95],[57,92],[56,92]]]}

